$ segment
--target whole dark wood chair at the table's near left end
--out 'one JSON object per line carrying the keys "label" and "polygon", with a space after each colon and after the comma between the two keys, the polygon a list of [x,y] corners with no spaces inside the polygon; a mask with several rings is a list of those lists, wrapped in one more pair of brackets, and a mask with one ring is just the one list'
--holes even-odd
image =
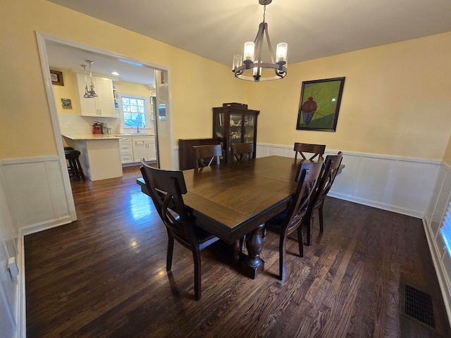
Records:
{"label": "whole dark wood chair at the table's near left end", "polygon": [[194,259],[194,299],[201,297],[200,251],[218,240],[213,234],[197,227],[183,201],[187,193],[185,178],[181,170],[171,171],[152,168],[142,160],[142,177],[156,211],[168,231],[166,270],[172,267],[174,239],[192,251]]}

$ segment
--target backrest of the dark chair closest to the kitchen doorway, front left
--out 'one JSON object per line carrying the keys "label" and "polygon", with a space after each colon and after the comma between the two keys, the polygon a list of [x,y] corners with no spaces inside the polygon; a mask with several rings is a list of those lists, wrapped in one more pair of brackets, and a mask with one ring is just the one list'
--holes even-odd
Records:
{"label": "backrest of the dark chair closest to the kitchen doorway, front left", "polygon": [[144,160],[140,170],[156,211],[168,232],[188,249],[195,247],[197,237],[190,226],[182,196],[187,193],[183,172],[152,168]]}

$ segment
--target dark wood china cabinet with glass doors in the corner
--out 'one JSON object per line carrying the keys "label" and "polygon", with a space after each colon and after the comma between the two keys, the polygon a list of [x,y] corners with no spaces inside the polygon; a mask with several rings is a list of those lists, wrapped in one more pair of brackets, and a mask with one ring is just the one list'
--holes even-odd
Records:
{"label": "dark wood china cabinet with glass doors in the corner", "polygon": [[253,143],[254,149],[257,149],[259,113],[247,109],[247,104],[223,104],[222,107],[213,108],[213,137],[223,145],[224,161],[233,162],[234,143]]}

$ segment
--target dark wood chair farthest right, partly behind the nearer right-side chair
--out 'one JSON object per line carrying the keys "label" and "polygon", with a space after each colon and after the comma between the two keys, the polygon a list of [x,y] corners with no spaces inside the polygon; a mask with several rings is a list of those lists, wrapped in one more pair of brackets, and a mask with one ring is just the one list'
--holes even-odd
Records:
{"label": "dark wood chair farthest right, partly behind the nearer right-side chair", "polygon": [[326,161],[321,170],[320,179],[318,181],[316,192],[310,201],[309,211],[303,220],[303,225],[307,228],[307,245],[311,245],[311,225],[314,221],[314,211],[318,210],[319,214],[319,232],[323,232],[323,206],[324,200],[332,187],[335,176],[337,176],[342,161],[342,152],[337,155],[326,156]]}

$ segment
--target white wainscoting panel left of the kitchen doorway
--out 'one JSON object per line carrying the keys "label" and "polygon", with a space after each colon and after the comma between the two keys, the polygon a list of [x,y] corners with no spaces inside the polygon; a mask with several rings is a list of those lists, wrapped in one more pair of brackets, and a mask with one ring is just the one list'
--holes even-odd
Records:
{"label": "white wainscoting panel left of the kitchen doorway", "polygon": [[72,222],[58,156],[15,158],[0,164],[11,213],[22,234]]}

